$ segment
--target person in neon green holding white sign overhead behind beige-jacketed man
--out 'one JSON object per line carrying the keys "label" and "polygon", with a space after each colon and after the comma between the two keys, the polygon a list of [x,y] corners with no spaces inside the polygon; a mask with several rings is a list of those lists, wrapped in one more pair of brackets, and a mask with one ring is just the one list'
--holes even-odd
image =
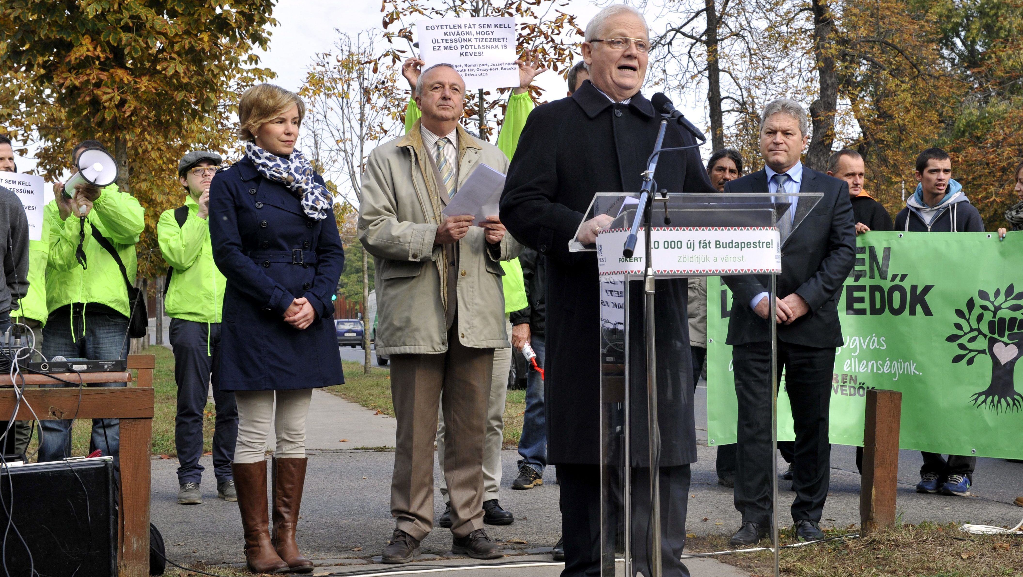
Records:
{"label": "person in neon green holding white sign overhead behind beige-jacketed man", "polygon": [[[526,126],[526,118],[535,104],[529,95],[529,87],[536,75],[546,71],[536,58],[531,59],[529,51],[523,59],[516,60],[519,64],[519,87],[511,91],[507,107],[504,110],[504,123],[497,135],[497,147],[510,159],[519,144],[519,134]],[[422,60],[409,58],[401,68],[402,76],[408,81],[412,92],[419,78]],[[405,132],[415,125],[419,119],[419,109],[415,99],[410,99],[405,108]],[[526,300],[526,285],[522,275],[522,265],[519,259],[501,262],[504,269],[502,284],[504,288],[504,317],[508,337],[511,336],[511,323],[507,321],[510,313],[529,306]],[[487,429],[483,454],[483,522],[489,525],[510,525],[515,516],[501,508],[497,490],[501,484],[501,447],[504,442],[504,401],[507,397],[508,371],[511,368],[511,349],[494,350],[493,376],[490,382],[490,399],[487,403]],[[440,415],[437,430],[437,459],[444,468],[444,414]],[[441,476],[441,496],[445,501],[444,515],[440,526],[451,527],[451,505],[448,502],[447,482]]]}

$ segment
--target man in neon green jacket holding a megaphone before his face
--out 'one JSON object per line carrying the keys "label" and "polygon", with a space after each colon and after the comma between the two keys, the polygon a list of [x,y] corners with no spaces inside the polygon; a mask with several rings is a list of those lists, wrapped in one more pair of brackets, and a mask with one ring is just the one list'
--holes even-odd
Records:
{"label": "man in neon green jacket holding a megaphone before his face", "polygon": [[[86,140],[72,151],[72,166],[85,148],[103,148]],[[73,169],[75,172],[75,169]],[[125,275],[112,254],[93,236],[93,229],[117,251],[128,282],[135,282],[135,243],[145,227],[144,209],[134,196],[112,184],[102,190],[77,185],[63,196],[63,183],[54,185],[54,198],[43,210],[50,227],[46,263],[46,302],[49,318],[43,328],[43,354],[92,360],[128,357],[130,305]],[[80,211],[84,210],[84,216]],[[88,267],[88,268],[86,268]],[[109,383],[105,387],[124,387]],[[70,385],[69,385],[70,386]],[[99,449],[119,462],[120,428],[117,418],[92,419],[90,451]],[[71,456],[71,419],[41,420],[39,460]]]}

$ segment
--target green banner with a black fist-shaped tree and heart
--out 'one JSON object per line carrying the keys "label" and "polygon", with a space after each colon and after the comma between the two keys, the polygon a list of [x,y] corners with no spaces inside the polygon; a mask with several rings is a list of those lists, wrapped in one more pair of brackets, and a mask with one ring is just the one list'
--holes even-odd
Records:
{"label": "green banner with a black fist-shaped tree and heart", "polygon": [[[902,448],[1023,458],[1023,234],[875,231],[857,243],[838,306],[831,442],[862,445],[866,390],[889,389],[902,393]],[[731,294],[710,277],[707,300],[708,438],[724,445],[736,442]],[[779,439],[792,440],[784,387]]]}

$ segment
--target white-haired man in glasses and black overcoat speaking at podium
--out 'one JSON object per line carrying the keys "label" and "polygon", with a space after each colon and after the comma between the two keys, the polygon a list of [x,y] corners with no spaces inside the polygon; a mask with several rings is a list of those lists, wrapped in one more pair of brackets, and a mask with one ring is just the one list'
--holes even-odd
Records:
{"label": "white-haired man in glasses and black overcoat speaking at podium", "polygon": [[[571,97],[533,110],[501,197],[502,222],[547,263],[547,450],[562,482],[563,576],[601,571],[599,282],[595,253],[570,253],[569,240],[595,192],[641,186],[661,122],[639,92],[649,50],[647,23],[635,8],[613,5],[597,13],[582,44],[590,80]],[[665,147],[694,142],[677,124],[668,126]],[[666,152],[656,178],[658,188],[670,192],[714,192],[696,148]],[[580,240],[592,242],[593,228],[586,227]],[[684,318],[685,280],[668,282],[680,282],[681,290],[673,293],[673,310],[658,310]],[[680,323],[680,330],[684,326]],[[688,371],[688,336],[679,341],[686,347],[675,366]],[[688,438],[674,443],[676,450],[665,451],[661,460],[664,575],[687,575],[678,553],[685,538],[690,463],[696,460],[692,403],[679,412],[674,416],[688,424]]]}

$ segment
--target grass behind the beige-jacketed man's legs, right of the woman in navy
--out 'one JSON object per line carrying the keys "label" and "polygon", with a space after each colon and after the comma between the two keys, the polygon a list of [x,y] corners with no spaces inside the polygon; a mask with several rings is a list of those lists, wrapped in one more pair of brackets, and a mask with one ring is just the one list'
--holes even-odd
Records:
{"label": "grass behind the beige-jacketed man's legs, right of the woman in navy", "polygon": [[[394,403],[391,401],[391,371],[374,366],[369,374],[366,374],[360,362],[344,361],[342,364],[345,367],[345,384],[327,387],[324,390],[366,408],[394,416]],[[505,447],[518,446],[525,411],[526,391],[508,391],[504,403]]]}

